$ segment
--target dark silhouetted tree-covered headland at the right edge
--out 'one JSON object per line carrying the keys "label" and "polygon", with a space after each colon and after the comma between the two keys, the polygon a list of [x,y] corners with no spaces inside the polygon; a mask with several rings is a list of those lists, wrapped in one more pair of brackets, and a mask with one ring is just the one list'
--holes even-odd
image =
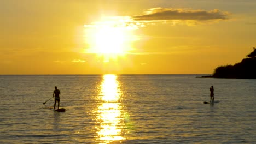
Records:
{"label": "dark silhouetted tree-covered headland at the right edge", "polygon": [[256,79],[256,48],[253,47],[253,52],[240,63],[220,66],[214,70],[212,76],[203,77]]}

